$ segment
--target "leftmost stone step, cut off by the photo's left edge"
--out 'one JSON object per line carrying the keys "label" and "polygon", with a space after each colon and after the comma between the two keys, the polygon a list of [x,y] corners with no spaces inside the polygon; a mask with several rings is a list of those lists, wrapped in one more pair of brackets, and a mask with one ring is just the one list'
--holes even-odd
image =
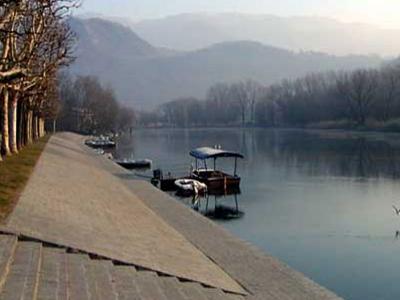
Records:
{"label": "leftmost stone step, cut off by the photo's left edge", "polygon": [[18,239],[13,235],[0,236],[0,290],[3,288],[14,259]]}

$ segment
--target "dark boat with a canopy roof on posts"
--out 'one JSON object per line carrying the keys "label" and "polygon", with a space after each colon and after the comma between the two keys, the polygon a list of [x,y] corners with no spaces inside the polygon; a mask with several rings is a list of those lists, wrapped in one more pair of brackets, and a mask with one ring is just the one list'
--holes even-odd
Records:
{"label": "dark boat with a canopy roof on posts", "polygon": [[[239,188],[240,176],[237,175],[237,161],[244,158],[242,154],[217,148],[202,147],[190,151],[190,156],[195,158],[196,164],[196,168],[191,172],[191,179],[205,183],[209,190]],[[235,160],[233,175],[216,169],[218,158],[233,158]],[[207,161],[209,160],[213,160],[213,168],[208,167]],[[203,168],[199,168],[199,161],[203,163]]]}

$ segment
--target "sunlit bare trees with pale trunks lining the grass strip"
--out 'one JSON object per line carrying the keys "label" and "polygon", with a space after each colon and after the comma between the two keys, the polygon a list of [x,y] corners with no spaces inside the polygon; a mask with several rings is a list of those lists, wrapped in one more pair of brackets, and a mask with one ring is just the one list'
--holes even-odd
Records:
{"label": "sunlit bare trees with pale trunks lining the grass strip", "polygon": [[67,21],[77,5],[75,0],[0,2],[2,156],[43,136],[45,120],[57,113],[57,73],[72,60],[75,37]]}

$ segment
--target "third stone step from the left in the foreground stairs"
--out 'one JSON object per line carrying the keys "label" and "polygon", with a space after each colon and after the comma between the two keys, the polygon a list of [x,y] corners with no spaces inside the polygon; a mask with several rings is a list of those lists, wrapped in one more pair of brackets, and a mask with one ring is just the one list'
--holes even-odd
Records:
{"label": "third stone step from the left in the foreground stairs", "polygon": [[38,299],[67,300],[65,249],[43,247]]}

